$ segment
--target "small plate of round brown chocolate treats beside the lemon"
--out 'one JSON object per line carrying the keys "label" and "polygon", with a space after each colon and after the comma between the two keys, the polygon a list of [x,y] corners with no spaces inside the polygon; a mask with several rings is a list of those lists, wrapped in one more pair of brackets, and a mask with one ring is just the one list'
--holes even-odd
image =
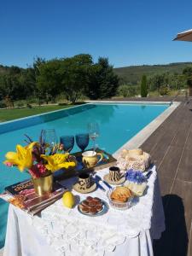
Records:
{"label": "small plate of round brown chocolate treats beside the lemon", "polygon": [[95,215],[103,209],[103,202],[98,197],[87,196],[87,198],[79,204],[80,212],[84,214]]}

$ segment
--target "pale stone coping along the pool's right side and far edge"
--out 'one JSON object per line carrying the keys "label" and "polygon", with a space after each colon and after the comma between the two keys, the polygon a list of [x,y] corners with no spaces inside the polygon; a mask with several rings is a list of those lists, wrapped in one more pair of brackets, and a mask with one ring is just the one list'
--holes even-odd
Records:
{"label": "pale stone coping along the pool's right side and far edge", "polygon": [[[105,101],[106,103],[109,101]],[[104,102],[103,102],[104,103]],[[129,103],[129,102],[126,102]],[[132,102],[130,102],[132,103]],[[142,102],[135,102],[137,104],[141,104]],[[117,151],[113,153],[113,156],[117,158],[122,151],[123,148],[126,149],[133,149],[133,148],[139,148],[147,139],[152,135],[152,133],[173,113],[173,111],[181,104],[181,102],[144,102],[144,104],[170,104],[169,108],[166,108],[166,110],[163,113],[160,113],[160,115],[151,121],[148,125],[146,125],[141,131],[137,132],[137,134],[134,137],[131,137],[129,141],[127,141],[125,144],[123,144]]]}

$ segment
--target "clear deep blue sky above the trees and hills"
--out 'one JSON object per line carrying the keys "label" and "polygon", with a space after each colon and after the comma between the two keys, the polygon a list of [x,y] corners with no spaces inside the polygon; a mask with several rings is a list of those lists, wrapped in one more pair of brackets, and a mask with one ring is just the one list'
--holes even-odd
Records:
{"label": "clear deep blue sky above the trees and hills", "polygon": [[113,67],[192,61],[192,1],[6,0],[0,3],[0,64],[88,53]]}

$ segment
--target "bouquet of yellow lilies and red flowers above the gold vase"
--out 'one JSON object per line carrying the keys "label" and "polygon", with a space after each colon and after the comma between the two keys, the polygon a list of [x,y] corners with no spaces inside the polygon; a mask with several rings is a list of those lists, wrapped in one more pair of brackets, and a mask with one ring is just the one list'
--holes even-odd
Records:
{"label": "bouquet of yellow lilies and red flowers above the gold vase", "polygon": [[[47,145],[43,138],[43,131],[39,137],[39,142],[33,142],[26,136],[27,145],[16,146],[16,152],[8,152],[3,163],[6,166],[17,166],[20,172],[29,172],[33,178],[46,177],[51,172],[60,169],[69,169],[76,166],[76,161],[72,156],[61,154],[62,145],[58,144],[51,148],[49,155],[46,155]],[[58,152],[58,153],[57,153]]]}

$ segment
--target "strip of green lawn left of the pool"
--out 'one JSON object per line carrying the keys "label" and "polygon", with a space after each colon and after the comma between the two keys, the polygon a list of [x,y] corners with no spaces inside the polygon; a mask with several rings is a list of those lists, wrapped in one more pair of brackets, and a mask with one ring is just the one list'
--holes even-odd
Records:
{"label": "strip of green lawn left of the pool", "polygon": [[13,119],[20,119],[29,115],[46,113],[49,111],[70,108],[73,105],[65,106],[41,106],[41,107],[32,107],[32,108],[14,108],[14,109],[0,109],[0,122],[5,122]]}

